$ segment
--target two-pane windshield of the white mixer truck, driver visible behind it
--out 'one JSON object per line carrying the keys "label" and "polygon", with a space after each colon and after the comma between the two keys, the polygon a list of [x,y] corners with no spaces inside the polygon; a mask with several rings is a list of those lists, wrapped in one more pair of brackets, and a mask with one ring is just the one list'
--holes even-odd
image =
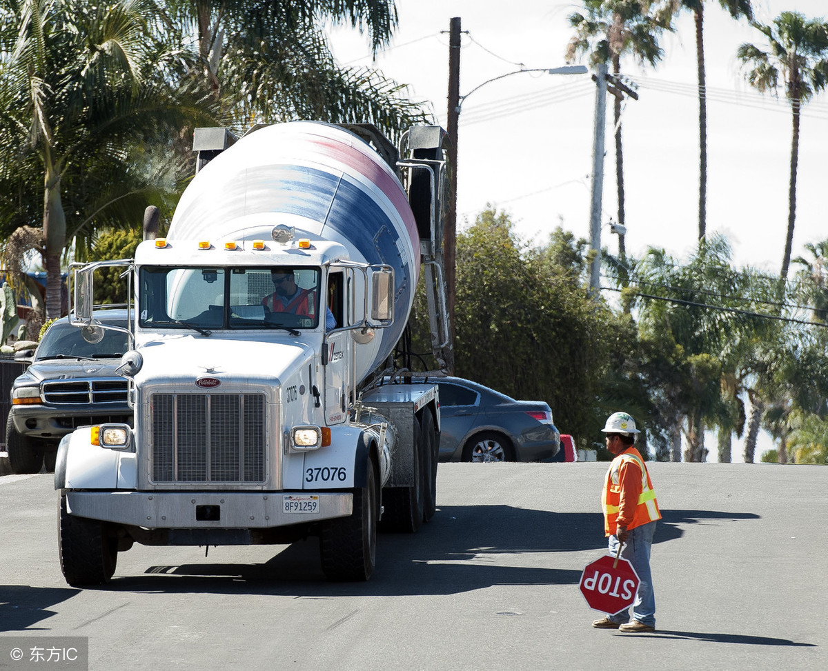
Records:
{"label": "two-pane windshield of the white mixer truck, driver visible behind it", "polygon": [[[142,327],[316,328],[320,269],[143,267]],[[205,333],[209,335],[209,333]]]}

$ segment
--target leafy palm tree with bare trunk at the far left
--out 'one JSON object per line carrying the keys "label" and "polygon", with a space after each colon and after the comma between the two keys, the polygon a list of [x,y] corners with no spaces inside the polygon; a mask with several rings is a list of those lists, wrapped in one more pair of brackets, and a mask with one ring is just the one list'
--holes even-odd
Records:
{"label": "leafy palm tree with bare trunk at the far left", "polygon": [[[15,196],[0,212],[7,232],[35,223],[40,174],[47,319],[60,316],[60,256],[70,234],[86,218],[90,228],[110,224],[136,185],[147,186],[129,148],[171,137],[185,119],[214,118],[166,78],[165,65],[172,71],[176,61],[152,39],[153,9],[143,0],[2,3],[0,185]],[[25,204],[19,213],[17,200]]]}

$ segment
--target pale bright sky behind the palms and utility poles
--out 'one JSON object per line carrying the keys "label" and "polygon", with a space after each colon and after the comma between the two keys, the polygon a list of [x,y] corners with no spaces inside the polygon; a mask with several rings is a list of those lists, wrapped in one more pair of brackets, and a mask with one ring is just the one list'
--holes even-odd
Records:
{"label": "pale bright sky behind the palms and utility poles", "polygon": [[[391,45],[372,63],[368,41],[350,28],[330,31],[341,65],[373,65],[445,127],[448,30],[460,17],[460,95],[488,79],[522,67],[565,64],[572,35],[566,17],[580,2],[539,0],[397,0],[399,26]],[[828,15],[826,0],[753,0],[754,13],[772,22],[782,11]],[[506,10],[508,8],[508,11]],[[708,91],[708,235],[720,232],[737,266],[778,274],[788,214],[792,115],[779,98],[762,95],[744,80],[736,50],[763,46],[763,35],[735,22],[718,2],[705,11]],[[699,132],[696,40],[692,15],[662,37],[656,69],[623,63],[638,83],[638,100],[623,108],[626,247],[640,256],[647,247],[680,260],[698,233]],[[585,61],[576,61],[585,62]],[[522,64],[522,65],[521,65]],[[465,99],[458,138],[458,226],[474,222],[492,204],[506,211],[517,233],[544,243],[561,226],[590,237],[590,197],[595,83],[590,74],[522,73],[484,84]],[[612,99],[608,100],[601,244],[618,251],[610,232],[617,221]],[[802,113],[797,222],[792,256],[807,256],[806,242],[828,237],[822,204],[828,157],[828,92]],[[795,270],[796,266],[792,266]]]}

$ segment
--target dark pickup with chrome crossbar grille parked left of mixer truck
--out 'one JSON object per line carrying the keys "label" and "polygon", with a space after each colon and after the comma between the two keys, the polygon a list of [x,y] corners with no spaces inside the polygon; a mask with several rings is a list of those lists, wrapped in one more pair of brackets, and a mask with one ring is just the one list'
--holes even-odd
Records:
{"label": "dark pickup with chrome crossbar grille parked left of mixer truck", "polygon": [[[126,309],[96,310],[104,324],[127,328]],[[76,327],[58,319],[38,344],[31,366],[12,384],[6,424],[9,467],[15,474],[55,470],[57,447],[79,426],[132,424],[128,382],[115,369],[127,333]]]}

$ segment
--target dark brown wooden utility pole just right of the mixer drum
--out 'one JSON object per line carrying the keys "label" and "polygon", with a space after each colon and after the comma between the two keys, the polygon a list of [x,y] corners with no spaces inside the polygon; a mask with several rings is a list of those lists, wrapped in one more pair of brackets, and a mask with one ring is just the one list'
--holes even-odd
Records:
{"label": "dark brown wooden utility pole just right of the mixer drum", "polygon": [[[449,313],[449,333],[455,342],[455,289],[457,286],[457,127],[460,117],[460,17],[451,19],[449,28],[449,208],[445,213],[443,233],[443,261],[445,265],[446,309]],[[454,362],[452,362],[452,366]],[[454,373],[454,371],[450,371]]]}

